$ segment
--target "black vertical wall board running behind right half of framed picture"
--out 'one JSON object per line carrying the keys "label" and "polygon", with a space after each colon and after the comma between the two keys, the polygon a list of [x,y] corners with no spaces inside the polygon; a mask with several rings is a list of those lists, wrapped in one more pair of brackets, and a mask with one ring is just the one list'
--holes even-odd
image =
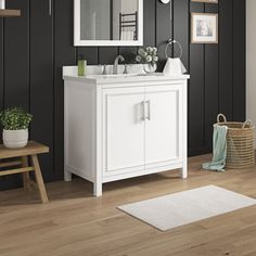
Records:
{"label": "black vertical wall board running behind right half of framed picture", "polygon": [[[218,4],[205,4],[206,13],[218,13]],[[213,124],[219,112],[219,47],[205,44],[204,146],[213,146]]]}

